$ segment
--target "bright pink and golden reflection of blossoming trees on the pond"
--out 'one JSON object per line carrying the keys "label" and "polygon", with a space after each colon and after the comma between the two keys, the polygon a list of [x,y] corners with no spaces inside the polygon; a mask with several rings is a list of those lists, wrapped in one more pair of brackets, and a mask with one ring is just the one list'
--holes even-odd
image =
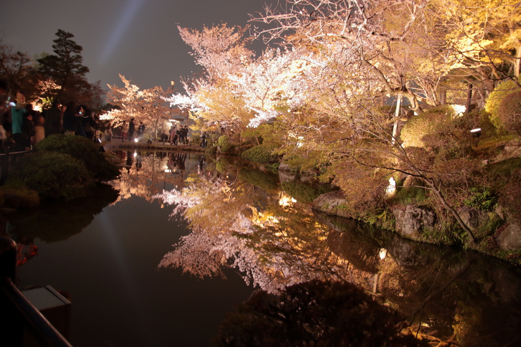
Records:
{"label": "bright pink and golden reflection of blossoming trees on the pond", "polygon": [[234,267],[246,282],[270,292],[312,279],[356,278],[368,284],[368,275],[328,249],[324,236],[328,229],[310,212],[292,207],[284,196],[282,204],[275,201],[274,210],[265,210],[262,201],[279,197],[232,181],[230,175],[228,179],[193,175],[183,189],[156,197],[175,205],[173,215],[188,220],[192,228],[159,266],[182,267],[199,277],[222,275],[222,267]]}

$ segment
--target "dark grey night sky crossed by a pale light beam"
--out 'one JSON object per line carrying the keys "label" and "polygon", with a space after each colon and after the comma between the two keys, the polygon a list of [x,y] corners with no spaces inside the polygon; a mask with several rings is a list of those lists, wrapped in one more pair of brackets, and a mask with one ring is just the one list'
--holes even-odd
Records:
{"label": "dark grey night sky crossed by a pale light beam", "polygon": [[[248,14],[263,11],[270,0],[16,0],[0,7],[0,35],[15,49],[53,53],[57,29],[75,35],[83,46],[89,82],[122,85],[118,73],[143,88],[170,86],[197,67],[181,27],[200,29],[227,22],[245,25]],[[276,3],[276,2],[275,2]]]}

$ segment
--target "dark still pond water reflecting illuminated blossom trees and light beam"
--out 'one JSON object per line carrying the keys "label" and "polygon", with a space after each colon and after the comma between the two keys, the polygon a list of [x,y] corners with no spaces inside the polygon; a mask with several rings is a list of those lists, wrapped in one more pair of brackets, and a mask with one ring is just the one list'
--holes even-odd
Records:
{"label": "dark still pond water reflecting illuminated blossom trees and light beam", "polygon": [[[75,346],[208,346],[255,289],[311,280],[356,284],[433,342],[521,343],[517,268],[314,213],[331,187],[306,177],[196,153],[115,155],[117,191],[7,217],[11,237],[38,246],[19,287],[71,293]],[[313,324],[338,324],[327,310]],[[237,322],[221,332],[265,334]]]}

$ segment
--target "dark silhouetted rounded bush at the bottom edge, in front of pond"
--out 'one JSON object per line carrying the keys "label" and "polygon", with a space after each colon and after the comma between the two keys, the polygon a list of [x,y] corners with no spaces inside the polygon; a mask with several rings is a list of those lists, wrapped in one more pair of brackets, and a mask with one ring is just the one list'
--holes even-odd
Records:
{"label": "dark silhouetted rounded bush at the bottom edge, in front of pond", "polygon": [[228,314],[217,346],[428,346],[395,327],[403,317],[355,285],[313,280],[279,295],[255,291]]}

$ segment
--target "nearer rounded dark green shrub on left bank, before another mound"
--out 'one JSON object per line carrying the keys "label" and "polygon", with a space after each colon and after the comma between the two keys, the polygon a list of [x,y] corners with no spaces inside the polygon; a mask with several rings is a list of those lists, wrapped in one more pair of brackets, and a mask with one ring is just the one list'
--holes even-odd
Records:
{"label": "nearer rounded dark green shrub on left bank, before another mound", "polygon": [[43,197],[66,200],[84,196],[94,186],[92,173],[82,161],[68,154],[48,151],[21,158],[7,185],[17,180]]}

